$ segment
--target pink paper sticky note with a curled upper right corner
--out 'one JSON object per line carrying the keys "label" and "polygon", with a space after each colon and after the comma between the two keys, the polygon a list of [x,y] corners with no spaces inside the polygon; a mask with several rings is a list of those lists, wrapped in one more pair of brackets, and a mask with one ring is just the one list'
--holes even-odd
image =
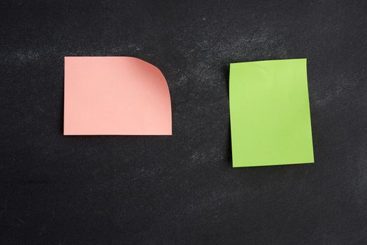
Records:
{"label": "pink paper sticky note with a curled upper right corner", "polygon": [[134,57],[65,57],[64,135],[171,135],[168,85]]}

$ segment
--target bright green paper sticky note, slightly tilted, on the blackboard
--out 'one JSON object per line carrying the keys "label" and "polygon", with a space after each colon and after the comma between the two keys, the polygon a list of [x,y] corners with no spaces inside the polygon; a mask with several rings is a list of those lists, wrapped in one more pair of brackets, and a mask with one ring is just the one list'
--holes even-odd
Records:
{"label": "bright green paper sticky note, slightly tilted, on the blackboard", "polygon": [[233,167],[314,162],[306,59],[233,63]]}

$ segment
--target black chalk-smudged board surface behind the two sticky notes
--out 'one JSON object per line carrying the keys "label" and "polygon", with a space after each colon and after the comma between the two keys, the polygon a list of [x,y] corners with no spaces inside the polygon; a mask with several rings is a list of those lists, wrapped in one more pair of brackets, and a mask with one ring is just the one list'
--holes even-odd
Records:
{"label": "black chalk-smudged board surface behind the two sticky notes", "polygon": [[[3,1],[0,244],[367,244],[366,1]],[[159,67],[172,137],[64,137],[64,56]],[[229,63],[308,58],[314,165],[231,168]]]}

